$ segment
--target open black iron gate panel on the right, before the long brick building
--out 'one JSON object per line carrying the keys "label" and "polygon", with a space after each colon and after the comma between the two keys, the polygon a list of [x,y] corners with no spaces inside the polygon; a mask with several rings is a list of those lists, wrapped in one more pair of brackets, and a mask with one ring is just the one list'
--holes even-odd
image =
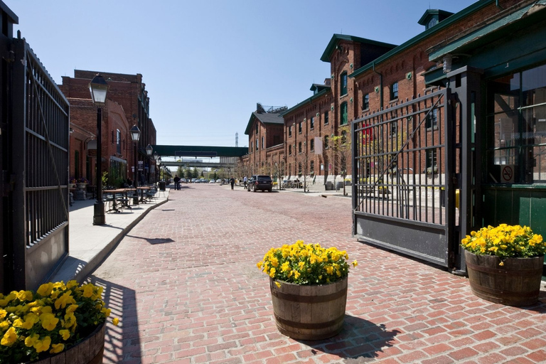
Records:
{"label": "open black iron gate panel on the right, before the long brick building", "polygon": [[352,124],[353,234],[444,267],[458,220],[446,178],[458,134],[450,100],[436,90]]}

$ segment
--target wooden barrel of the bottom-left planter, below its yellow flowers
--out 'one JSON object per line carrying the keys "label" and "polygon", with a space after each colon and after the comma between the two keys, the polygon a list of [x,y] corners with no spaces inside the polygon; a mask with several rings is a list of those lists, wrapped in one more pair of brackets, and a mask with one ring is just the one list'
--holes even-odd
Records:
{"label": "wooden barrel of the bottom-left planter, below its yellow flowers", "polygon": [[70,363],[70,364],[101,364],[105,351],[105,323],[97,327],[90,336],[75,346],[47,358],[33,361],[32,364]]}

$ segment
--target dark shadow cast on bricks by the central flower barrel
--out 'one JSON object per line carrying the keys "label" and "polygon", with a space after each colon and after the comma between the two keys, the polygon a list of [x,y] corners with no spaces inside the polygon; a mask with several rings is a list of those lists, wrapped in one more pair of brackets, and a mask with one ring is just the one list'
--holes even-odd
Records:
{"label": "dark shadow cast on bricks by the central flower barrel", "polygon": [[301,342],[314,350],[344,358],[347,364],[366,363],[375,361],[379,353],[390,348],[398,333],[398,330],[387,331],[385,325],[346,314],[343,331],[338,336],[323,341]]}

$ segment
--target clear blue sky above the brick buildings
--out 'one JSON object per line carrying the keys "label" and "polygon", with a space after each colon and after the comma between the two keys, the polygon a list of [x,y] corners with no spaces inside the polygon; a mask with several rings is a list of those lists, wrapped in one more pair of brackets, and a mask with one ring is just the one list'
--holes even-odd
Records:
{"label": "clear blue sky above the brick buildings", "polygon": [[427,9],[473,0],[4,0],[55,82],[141,73],[158,144],[248,145],[256,103],[294,106],[330,75],[333,33],[401,44]]}

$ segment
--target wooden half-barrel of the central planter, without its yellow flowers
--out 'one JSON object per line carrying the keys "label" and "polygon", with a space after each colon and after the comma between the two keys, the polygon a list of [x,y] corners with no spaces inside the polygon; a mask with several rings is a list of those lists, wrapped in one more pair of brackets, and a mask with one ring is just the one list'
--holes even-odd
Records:
{"label": "wooden half-barrel of the central planter, without its yellow flowers", "polygon": [[296,340],[323,340],[340,333],[345,318],[348,278],[332,284],[301,286],[269,279],[279,331]]}

